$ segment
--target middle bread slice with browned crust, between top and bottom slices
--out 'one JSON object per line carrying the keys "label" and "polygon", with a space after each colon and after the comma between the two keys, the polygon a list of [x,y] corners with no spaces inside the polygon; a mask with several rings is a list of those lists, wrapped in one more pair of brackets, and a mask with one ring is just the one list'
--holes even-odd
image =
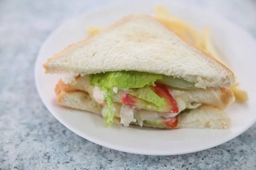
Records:
{"label": "middle bread slice with browned crust, between top and bottom slices", "polygon": [[[59,91],[85,91],[90,96],[93,96],[93,86],[89,85],[89,78],[87,75],[81,77],[76,77],[76,80],[70,84],[65,84],[61,79],[56,85],[56,94]],[[213,105],[220,109],[227,108],[232,102],[234,102],[235,97],[233,92],[229,88],[207,88],[207,89],[176,89],[183,91],[181,99],[185,99],[187,102],[197,102],[204,103],[207,105]],[[179,91],[177,91],[179,93]],[[176,96],[176,95],[175,95]],[[92,97],[93,98],[93,97]]]}

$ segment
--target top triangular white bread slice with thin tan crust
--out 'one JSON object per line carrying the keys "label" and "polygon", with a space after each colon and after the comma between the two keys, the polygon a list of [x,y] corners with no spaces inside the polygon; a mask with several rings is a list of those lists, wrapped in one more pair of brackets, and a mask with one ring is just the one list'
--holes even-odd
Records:
{"label": "top triangular white bread slice with thin tan crust", "polygon": [[229,68],[181,40],[149,15],[124,17],[104,31],[68,46],[44,63],[45,73],[86,75],[134,70],[195,82],[196,87],[229,87]]}

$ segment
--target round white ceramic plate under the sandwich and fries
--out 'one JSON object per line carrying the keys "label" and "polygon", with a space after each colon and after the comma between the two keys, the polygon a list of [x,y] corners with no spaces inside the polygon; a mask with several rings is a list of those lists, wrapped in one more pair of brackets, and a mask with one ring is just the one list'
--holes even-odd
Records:
{"label": "round white ceramic plate under the sandwich and fries", "polygon": [[104,120],[93,113],[61,107],[55,102],[54,87],[60,76],[44,74],[42,64],[47,58],[67,45],[87,37],[90,25],[108,26],[125,15],[154,11],[154,4],[116,6],[91,11],[68,20],[55,30],[42,46],[35,64],[35,81],[38,93],[48,110],[64,126],[96,144],[128,153],[145,155],[177,155],[215,147],[243,133],[256,122],[256,42],[244,30],[230,21],[199,8],[166,7],[198,28],[210,25],[216,48],[235,72],[241,87],[249,93],[246,105],[237,103],[227,109],[232,119],[230,130],[174,129],[154,130],[113,125],[105,127]]}

